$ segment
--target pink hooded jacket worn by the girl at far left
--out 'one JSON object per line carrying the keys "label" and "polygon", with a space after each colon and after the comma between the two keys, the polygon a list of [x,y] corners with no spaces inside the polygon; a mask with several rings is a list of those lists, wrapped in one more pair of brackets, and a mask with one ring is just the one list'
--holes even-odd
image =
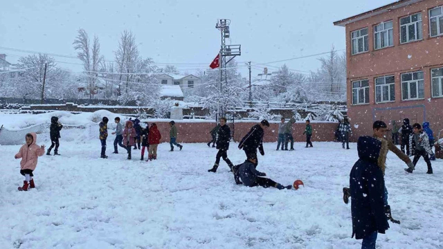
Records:
{"label": "pink hooded jacket worn by the girl at far left", "polygon": [[30,169],[35,170],[35,167],[37,167],[37,160],[39,156],[44,155],[44,149],[42,147],[39,147],[37,142],[37,134],[36,133],[30,133],[33,136],[33,143],[31,145],[24,144],[17,155],[15,157],[21,158],[20,161],[20,169]]}

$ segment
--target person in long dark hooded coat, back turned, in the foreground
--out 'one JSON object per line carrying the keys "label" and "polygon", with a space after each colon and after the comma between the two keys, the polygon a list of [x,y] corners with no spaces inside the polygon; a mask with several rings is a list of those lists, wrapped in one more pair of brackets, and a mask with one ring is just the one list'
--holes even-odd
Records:
{"label": "person in long dark hooded coat, back turned, in the foreground", "polygon": [[384,234],[389,228],[383,169],[378,165],[382,150],[388,150],[386,142],[361,136],[357,142],[359,160],[350,173],[352,237],[363,239],[361,248],[375,248],[377,233]]}

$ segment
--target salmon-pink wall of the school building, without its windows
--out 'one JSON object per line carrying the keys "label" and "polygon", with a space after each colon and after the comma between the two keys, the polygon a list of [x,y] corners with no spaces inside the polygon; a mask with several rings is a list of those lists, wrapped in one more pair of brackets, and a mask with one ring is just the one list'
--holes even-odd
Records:
{"label": "salmon-pink wall of the school building, without its windows", "polygon": [[[346,29],[347,50],[347,105],[351,122],[358,125],[354,136],[372,132],[374,120],[402,120],[411,122],[431,122],[433,129],[443,129],[443,98],[431,98],[431,68],[443,67],[443,36],[430,37],[428,10],[443,6],[443,0],[425,0],[410,6],[390,10],[386,13],[348,24]],[[400,44],[399,19],[422,13],[423,39],[408,44]],[[374,25],[383,21],[393,21],[393,47],[374,50]],[[368,27],[369,51],[351,55],[351,33]],[[424,72],[424,100],[401,100],[401,73]],[[374,78],[395,75],[395,102],[375,102]],[[369,80],[370,103],[352,104],[352,81]]]}

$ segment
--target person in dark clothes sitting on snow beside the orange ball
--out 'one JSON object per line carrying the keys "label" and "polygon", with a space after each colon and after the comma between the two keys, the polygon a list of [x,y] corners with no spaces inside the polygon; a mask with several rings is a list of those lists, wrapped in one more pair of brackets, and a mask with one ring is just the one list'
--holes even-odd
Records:
{"label": "person in dark clothes sitting on snow beside the orange ball", "polygon": [[[270,178],[266,178],[263,176],[266,176],[266,173],[262,173],[257,171],[255,169],[255,164],[257,163],[257,159],[248,159],[245,160],[244,163],[241,165],[238,165],[238,169],[236,174],[239,176],[239,178],[242,179],[243,184],[248,187],[256,187],[256,186],[262,186],[262,187],[275,187],[279,190],[291,190],[292,185],[283,186],[280,183],[277,183]],[[235,175],[235,174],[234,174]],[[237,184],[238,183],[236,181]]]}

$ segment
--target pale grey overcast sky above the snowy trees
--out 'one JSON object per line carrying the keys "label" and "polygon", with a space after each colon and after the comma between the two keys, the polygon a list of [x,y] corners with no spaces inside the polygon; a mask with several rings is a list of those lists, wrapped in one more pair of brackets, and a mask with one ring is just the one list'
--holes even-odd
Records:
{"label": "pale grey overcast sky above the snowy trees", "polygon": [[[180,71],[208,68],[220,46],[217,19],[230,19],[230,40],[241,44],[239,65],[265,63],[345,48],[345,28],[333,21],[391,3],[393,0],[21,0],[2,1],[0,46],[44,53],[76,55],[73,39],[78,28],[100,39],[101,53],[114,59],[120,33],[132,30],[143,57],[178,65]],[[0,48],[15,63],[27,55]],[[55,57],[62,68],[81,71],[78,59]],[[289,68],[315,71],[317,57],[285,62]],[[274,63],[273,66],[282,66]],[[269,68],[273,71],[273,68]],[[262,68],[254,67],[253,75]],[[246,77],[246,70],[241,68]]]}

